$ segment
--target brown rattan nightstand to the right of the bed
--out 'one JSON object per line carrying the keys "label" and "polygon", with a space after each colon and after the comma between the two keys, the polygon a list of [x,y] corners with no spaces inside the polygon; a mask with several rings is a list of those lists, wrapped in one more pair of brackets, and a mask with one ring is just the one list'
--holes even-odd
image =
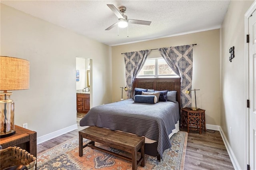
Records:
{"label": "brown rattan nightstand to the right of the bed", "polygon": [[193,111],[192,109],[186,107],[181,109],[181,121],[182,121],[182,128],[187,127],[188,133],[189,130],[199,130],[201,134],[202,129],[206,131],[205,126],[205,110],[198,109]]}

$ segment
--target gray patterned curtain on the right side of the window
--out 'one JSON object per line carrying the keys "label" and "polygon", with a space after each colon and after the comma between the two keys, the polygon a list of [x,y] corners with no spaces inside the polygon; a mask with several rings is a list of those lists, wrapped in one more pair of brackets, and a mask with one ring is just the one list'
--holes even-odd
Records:
{"label": "gray patterned curtain on the right side of the window", "polygon": [[191,93],[188,95],[185,91],[192,87],[193,45],[165,47],[158,50],[172,70],[181,77],[181,108],[191,107]]}

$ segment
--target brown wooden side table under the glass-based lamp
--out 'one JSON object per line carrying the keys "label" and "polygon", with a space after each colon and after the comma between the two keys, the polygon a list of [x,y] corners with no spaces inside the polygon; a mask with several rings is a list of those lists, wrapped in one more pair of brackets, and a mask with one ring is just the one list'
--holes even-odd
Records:
{"label": "brown wooden side table under the glass-based lamp", "polygon": [[15,125],[16,133],[12,136],[0,138],[3,149],[9,146],[19,146],[36,157],[36,132]]}

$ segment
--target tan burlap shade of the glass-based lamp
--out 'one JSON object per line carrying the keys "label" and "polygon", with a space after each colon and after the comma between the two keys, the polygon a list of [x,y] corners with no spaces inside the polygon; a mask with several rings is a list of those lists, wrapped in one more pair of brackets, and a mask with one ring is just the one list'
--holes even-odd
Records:
{"label": "tan burlap shade of the glass-based lamp", "polygon": [[29,89],[29,61],[0,56],[0,90]]}

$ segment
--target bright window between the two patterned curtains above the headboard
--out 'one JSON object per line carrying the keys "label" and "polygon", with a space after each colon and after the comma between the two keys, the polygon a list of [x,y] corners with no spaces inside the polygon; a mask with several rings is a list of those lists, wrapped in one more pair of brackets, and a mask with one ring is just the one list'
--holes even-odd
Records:
{"label": "bright window between the two patterned curtains above the headboard", "polygon": [[163,58],[147,59],[138,77],[177,76]]}

